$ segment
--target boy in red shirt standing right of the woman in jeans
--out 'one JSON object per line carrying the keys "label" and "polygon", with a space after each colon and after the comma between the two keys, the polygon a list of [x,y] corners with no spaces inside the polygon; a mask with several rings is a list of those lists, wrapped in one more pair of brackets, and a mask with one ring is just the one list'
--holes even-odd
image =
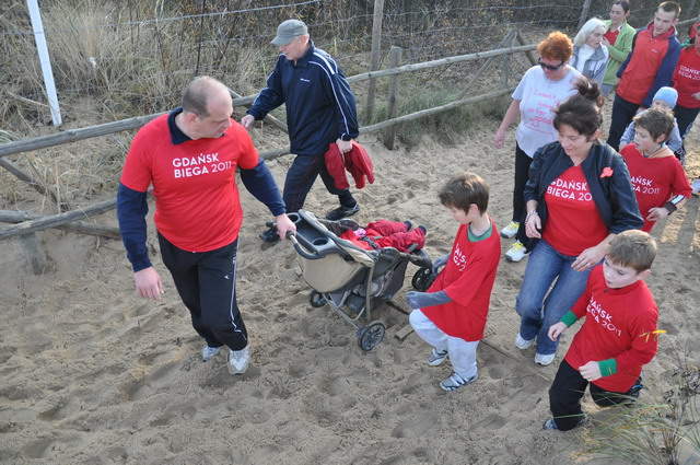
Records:
{"label": "boy in red shirt standing right of the woman in jeans", "polygon": [[630,179],[644,218],[642,231],[650,232],[690,197],[692,188],[674,152],[666,147],[674,129],[674,116],[650,108],[634,117],[634,143],[620,150],[630,170]]}

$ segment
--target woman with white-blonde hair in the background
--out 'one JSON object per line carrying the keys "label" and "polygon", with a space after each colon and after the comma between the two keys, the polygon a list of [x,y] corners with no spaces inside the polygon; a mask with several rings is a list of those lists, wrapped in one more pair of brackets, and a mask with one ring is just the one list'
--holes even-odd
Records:
{"label": "woman with white-blonde hair in the background", "polygon": [[603,20],[592,18],[581,27],[573,38],[573,56],[571,66],[584,77],[603,83],[603,77],[608,65],[608,49],[602,46],[605,35]]}

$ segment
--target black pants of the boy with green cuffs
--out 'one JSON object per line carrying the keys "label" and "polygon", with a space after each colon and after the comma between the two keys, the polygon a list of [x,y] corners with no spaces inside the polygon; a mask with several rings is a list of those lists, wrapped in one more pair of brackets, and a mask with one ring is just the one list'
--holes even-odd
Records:
{"label": "black pants of the boy with green cuffs", "polygon": [[[561,361],[555,382],[549,388],[549,409],[559,430],[568,431],[579,426],[579,420],[583,416],[581,397],[587,385],[588,382],[578,370],[574,370],[565,360]],[[628,393],[605,391],[593,383],[591,383],[591,397],[600,407],[629,402]]]}

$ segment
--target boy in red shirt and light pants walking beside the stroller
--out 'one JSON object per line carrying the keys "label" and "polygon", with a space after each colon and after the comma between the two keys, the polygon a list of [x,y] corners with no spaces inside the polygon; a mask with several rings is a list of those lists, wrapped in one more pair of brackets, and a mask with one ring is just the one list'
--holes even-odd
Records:
{"label": "boy in red shirt and light pants walking beside the stroller", "polygon": [[491,289],[501,256],[501,239],[487,213],[489,186],[474,173],[453,177],[440,201],[459,223],[452,252],[433,264],[443,265],[428,292],[406,294],[413,330],[433,347],[428,364],[436,367],[447,356],[454,373],[440,383],[454,391],[477,380],[477,346],[483,337]]}

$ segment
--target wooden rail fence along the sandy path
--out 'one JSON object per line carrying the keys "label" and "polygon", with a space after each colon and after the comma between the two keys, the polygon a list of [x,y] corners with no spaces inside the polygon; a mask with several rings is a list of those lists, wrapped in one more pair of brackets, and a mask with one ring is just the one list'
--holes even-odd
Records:
{"label": "wooden rail fence along the sandy path", "polygon": [[[378,78],[389,78],[389,95],[387,107],[387,119],[371,126],[364,126],[360,128],[360,133],[370,133],[375,131],[384,132],[384,143],[392,149],[394,147],[394,132],[393,128],[401,123],[411,121],[419,118],[424,118],[430,115],[446,112],[453,108],[457,108],[463,105],[475,104],[487,100],[495,98],[502,95],[506,95],[513,92],[512,88],[509,88],[510,80],[510,60],[514,54],[523,53],[532,65],[536,63],[536,59],[532,51],[536,48],[535,44],[524,44],[522,36],[516,30],[511,30],[509,34],[499,44],[497,49],[459,55],[454,57],[442,58],[439,60],[425,61],[421,63],[399,66],[400,62],[400,48],[393,47],[390,53],[390,68],[384,70],[370,71],[362,74],[357,74],[348,78],[350,83],[361,82],[365,80],[375,80]],[[501,82],[498,90],[488,92],[486,94],[467,96],[470,90],[474,89],[475,82],[495,62],[495,59],[501,59]],[[442,67],[453,65],[457,62],[486,60],[481,68],[475,73],[470,82],[465,85],[463,92],[458,95],[457,100],[446,105],[438,106],[434,108],[423,109],[408,115],[396,116],[398,90],[399,90],[399,75],[408,72],[415,72],[425,70],[435,67]],[[231,91],[233,96],[234,106],[249,106],[255,100],[256,95],[241,96],[234,91]],[[165,113],[165,112],[164,112]],[[0,166],[8,170],[19,179],[26,183],[30,187],[36,189],[42,195],[49,197],[54,202],[57,201],[58,196],[50,188],[45,187],[42,183],[34,179],[34,177],[20,168],[9,160],[4,160],[4,156],[28,152],[33,150],[45,149],[48,147],[56,147],[63,143],[77,142],[80,140],[90,139],[98,136],[106,136],[125,130],[138,129],[145,125],[151,119],[164,113],[158,113],[153,115],[139,116],[135,118],[128,118],[114,123],[106,123],[103,125],[91,126],[81,129],[70,129],[60,133],[37,137],[33,139],[20,140],[9,143],[0,144]],[[287,126],[269,116],[266,118],[270,124],[282,129],[287,132]],[[267,150],[260,153],[265,160],[273,159],[283,154],[290,153],[289,147]],[[66,231],[78,232],[82,234],[100,235],[108,239],[118,239],[119,231],[114,226],[101,226],[82,220],[86,220],[93,216],[104,213],[106,211],[116,208],[116,199],[102,201],[90,207],[84,208],[71,208],[68,204],[59,205],[60,213],[51,216],[39,216],[36,213],[28,213],[24,211],[9,211],[0,210],[0,222],[12,223],[9,226],[0,229],[0,241],[10,237],[19,237],[20,243],[25,252],[27,260],[30,261],[32,269],[35,274],[45,272],[47,267],[47,259],[40,247],[40,243],[36,237],[36,232],[49,228],[57,228]]]}

